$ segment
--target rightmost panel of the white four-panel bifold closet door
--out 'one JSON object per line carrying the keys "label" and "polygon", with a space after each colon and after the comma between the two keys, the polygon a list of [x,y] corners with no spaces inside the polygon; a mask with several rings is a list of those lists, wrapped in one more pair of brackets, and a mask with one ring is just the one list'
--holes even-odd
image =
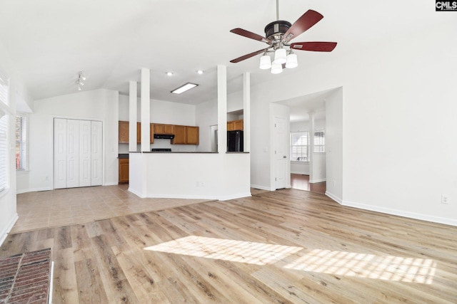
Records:
{"label": "rightmost panel of the white four-panel bifold closet door", "polygon": [[102,183],[102,174],[103,174],[103,132],[101,122],[92,121],[91,122],[91,185],[99,186]]}

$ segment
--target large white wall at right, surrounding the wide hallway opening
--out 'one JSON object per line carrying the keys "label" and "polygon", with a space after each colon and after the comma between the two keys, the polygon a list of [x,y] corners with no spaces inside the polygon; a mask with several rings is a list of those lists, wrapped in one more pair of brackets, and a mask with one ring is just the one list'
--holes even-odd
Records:
{"label": "large white wall at right, surrounding the wide hallway opening", "polygon": [[253,184],[268,187],[266,105],[342,87],[342,203],[457,225],[457,19],[435,18],[378,44],[308,52],[306,70],[251,88]]}

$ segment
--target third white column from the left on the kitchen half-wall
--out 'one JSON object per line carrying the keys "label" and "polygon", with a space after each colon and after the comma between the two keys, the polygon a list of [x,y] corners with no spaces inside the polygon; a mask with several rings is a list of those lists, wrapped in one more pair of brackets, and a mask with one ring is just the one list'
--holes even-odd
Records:
{"label": "third white column from the left on the kitchen half-wall", "polygon": [[227,152],[227,67],[217,65],[217,112],[219,153]]}

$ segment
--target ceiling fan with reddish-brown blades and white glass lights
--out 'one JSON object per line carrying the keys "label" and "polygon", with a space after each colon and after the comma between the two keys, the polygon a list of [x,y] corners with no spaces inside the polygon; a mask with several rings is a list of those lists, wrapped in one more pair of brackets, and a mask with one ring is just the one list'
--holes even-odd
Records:
{"label": "ceiling fan with reddish-brown blades and white glass lights", "polygon": [[[231,33],[268,44],[267,48],[235,58],[230,61],[231,63],[238,63],[263,53],[260,68],[271,68],[271,73],[276,74],[281,73],[283,68],[296,68],[298,66],[297,57],[292,50],[331,52],[336,47],[336,42],[313,41],[289,43],[293,38],[296,38],[296,36],[318,23],[318,21],[323,19],[323,16],[317,11],[310,9],[292,24],[288,21],[279,20],[278,11],[278,0],[276,0],[276,21],[268,23],[265,26],[265,37],[251,31],[246,31],[243,28],[233,28],[231,30]],[[273,62],[271,62],[271,58],[267,53],[274,53]]]}

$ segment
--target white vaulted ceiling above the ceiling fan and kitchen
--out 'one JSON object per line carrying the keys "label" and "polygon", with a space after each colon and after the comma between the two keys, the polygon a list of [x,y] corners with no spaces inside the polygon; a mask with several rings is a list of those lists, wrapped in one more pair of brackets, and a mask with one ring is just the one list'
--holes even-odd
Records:
{"label": "white vaulted ceiling above the ceiling fan and kitchen", "polygon": [[[84,90],[128,95],[129,81],[139,81],[140,69],[149,68],[151,98],[196,104],[216,98],[218,64],[227,65],[233,92],[241,90],[246,71],[256,85],[334,53],[452,18],[428,2],[280,0],[279,19],[293,23],[308,9],[324,16],[293,42],[338,42],[332,53],[297,51],[298,68],[280,75],[259,70],[258,56],[229,62],[266,46],[229,31],[241,27],[263,36],[264,26],[276,20],[276,0],[0,0],[0,39],[34,100],[77,92],[79,70],[87,78]],[[204,75],[196,74],[199,69]],[[170,93],[188,81],[199,87]]]}

